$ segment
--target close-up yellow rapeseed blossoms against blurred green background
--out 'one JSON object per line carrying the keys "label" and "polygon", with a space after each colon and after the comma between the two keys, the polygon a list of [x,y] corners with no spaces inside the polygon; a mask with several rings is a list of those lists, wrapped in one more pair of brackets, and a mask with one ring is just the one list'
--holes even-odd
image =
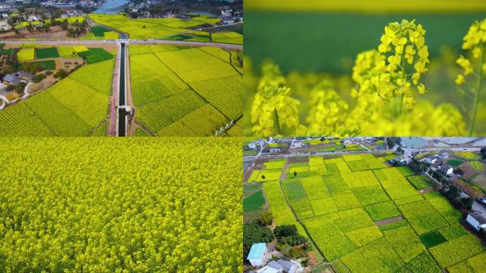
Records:
{"label": "close-up yellow rapeseed blossoms against blurred green background", "polygon": [[[486,132],[478,127],[482,77],[486,74],[486,19],[475,22],[463,38],[464,50],[458,65],[464,72],[456,83],[464,97],[461,109],[450,103],[433,105],[421,99],[428,92],[421,75],[428,72],[426,30],[415,20],[389,23],[384,28],[377,49],[357,55],[352,68],[354,87],[342,97],[328,78],[315,84],[308,108],[292,95],[287,79],[278,66],[264,63],[261,77],[254,86],[257,93],[249,115],[252,136],[288,135],[422,135],[476,136]],[[246,73],[246,72],[245,72]],[[289,75],[290,77],[291,75]],[[473,87],[468,87],[468,84]],[[472,97],[472,100],[471,100]],[[470,100],[467,100],[470,99]],[[350,103],[348,103],[350,101]],[[308,109],[305,121],[299,109]]]}

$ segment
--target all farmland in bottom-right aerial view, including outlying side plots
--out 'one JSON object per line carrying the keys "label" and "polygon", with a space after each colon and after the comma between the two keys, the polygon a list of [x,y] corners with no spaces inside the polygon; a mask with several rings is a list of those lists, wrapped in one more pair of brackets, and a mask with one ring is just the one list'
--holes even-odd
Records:
{"label": "all farmland in bottom-right aerial view, including outlying side plots", "polygon": [[[336,140],[325,140],[332,141]],[[244,142],[245,146],[264,143]],[[300,141],[266,141],[257,146],[259,155],[245,159],[245,225],[256,220],[261,230],[274,230],[276,236],[275,241],[255,239],[248,233],[245,244],[267,242],[269,249],[276,247],[274,257],[296,259],[312,272],[484,272],[485,241],[465,220],[470,206],[455,203],[464,196],[450,199],[455,178],[447,176],[451,181],[447,184],[438,178],[441,167],[433,171],[442,165],[411,158],[403,164],[396,153],[400,146],[387,151],[374,146],[374,141],[353,142],[365,151],[346,151],[342,141],[340,149],[313,154],[295,149],[296,142]],[[275,151],[277,146],[282,150]],[[414,154],[418,149],[409,151]],[[475,152],[458,154],[475,156],[477,165],[483,164]],[[449,166],[451,160],[441,164]],[[416,166],[431,168],[432,176]],[[273,221],[263,224],[269,213]],[[284,244],[276,232],[279,226],[295,226],[307,241]]]}

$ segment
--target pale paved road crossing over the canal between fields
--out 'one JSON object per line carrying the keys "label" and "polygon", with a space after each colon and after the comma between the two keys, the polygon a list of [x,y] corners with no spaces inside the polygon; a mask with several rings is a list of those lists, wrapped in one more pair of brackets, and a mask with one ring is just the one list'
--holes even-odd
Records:
{"label": "pale paved road crossing over the canal between fields", "polygon": [[205,43],[194,41],[165,41],[165,40],[93,40],[93,41],[0,41],[0,43],[20,45],[26,43],[43,44],[43,45],[113,45],[114,43],[129,43],[134,45],[158,44],[158,45],[185,45],[185,46],[214,46],[217,48],[225,48],[229,50],[243,50],[243,45],[233,45],[229,43]]}

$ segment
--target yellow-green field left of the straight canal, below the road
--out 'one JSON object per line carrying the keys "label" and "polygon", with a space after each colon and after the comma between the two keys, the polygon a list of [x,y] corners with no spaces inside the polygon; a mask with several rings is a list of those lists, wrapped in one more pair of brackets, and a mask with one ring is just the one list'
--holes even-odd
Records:
{"label": "yellow-green field left of the straight canal, below the road", "polygon": [[[88,136],[107,115],[113,60],[86,65],[0,112],[0,136]],[[20,113],[20,114],[18,114]],[[10,130],[13,129],[13,130]]]}

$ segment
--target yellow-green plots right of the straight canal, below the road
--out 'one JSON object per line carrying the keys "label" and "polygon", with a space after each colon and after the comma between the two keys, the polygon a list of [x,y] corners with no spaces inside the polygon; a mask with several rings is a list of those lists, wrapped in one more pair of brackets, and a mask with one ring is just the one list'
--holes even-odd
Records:
{"label": "yellow-green plots right of the straight canal, below the road", "polygon": [[214,135],[242,114],[242,74],[229,62],[220,48],[132,45],[137,119],[158,136]]}

